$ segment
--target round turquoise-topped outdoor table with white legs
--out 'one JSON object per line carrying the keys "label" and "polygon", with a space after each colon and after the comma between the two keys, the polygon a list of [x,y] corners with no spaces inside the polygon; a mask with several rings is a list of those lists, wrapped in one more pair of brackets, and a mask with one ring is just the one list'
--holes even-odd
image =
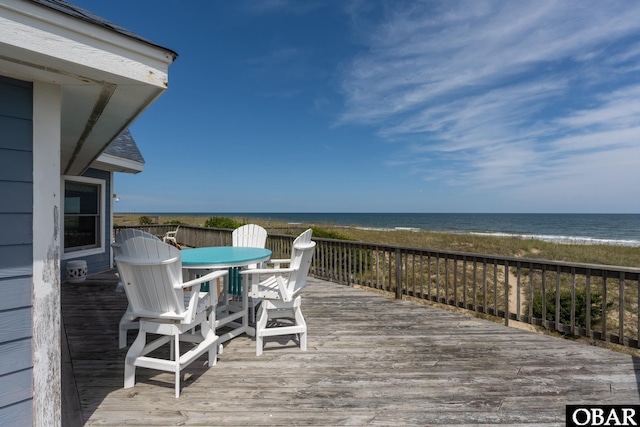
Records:
{"label": "round turquoise-topped outdoor table with white legs", "polygon": [[[238,246],[211,246],[180,251],[182,268],[188,270],[188,275],[204,274],[202,270],[220,270],[223,268],[241,269],[251,264],[259,264],[271,258],[271,251],[263,248],[247,248]],[[235,270],[230,271],[234,274]],[[237,275],[235,280],[240,280]],[[227,278],[226,280],[229,280]],[[216,321],[213,327],[229,327],[231,331],[220,335],[219,342],[229,341],[242,333],[254,336],[255,329],[249,326],[249,283],[243,284],[242,304],[238,306],[229,300],[229,286],[224,286],[220,301],[216,308]],[[242,319],[241,322],[238,322]]]}

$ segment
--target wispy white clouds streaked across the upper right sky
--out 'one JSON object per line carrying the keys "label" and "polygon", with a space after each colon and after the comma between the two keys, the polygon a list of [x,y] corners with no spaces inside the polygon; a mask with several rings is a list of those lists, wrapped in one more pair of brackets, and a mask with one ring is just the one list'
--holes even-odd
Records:
{"label": "wispy white clouds streaked across the upper right sky", "polygon": [[390,2],[377,20],[356,9],[366,50],[343,76],[339,123],[399,144],[391,164],[493,189],[601,188],[606,171],[632,171],[640,3]]}

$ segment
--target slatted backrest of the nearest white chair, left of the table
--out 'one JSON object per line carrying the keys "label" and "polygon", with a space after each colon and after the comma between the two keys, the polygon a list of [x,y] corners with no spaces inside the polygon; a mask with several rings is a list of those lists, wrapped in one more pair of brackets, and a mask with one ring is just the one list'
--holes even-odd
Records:
{"label": "slatted backrest of the nearest white chair, left of the table", "polygon": [[120,280],[133,314],[140,317],[183,319],[184,292],[180,251],[159,239],[137,236],[127,239],[116,257]]}

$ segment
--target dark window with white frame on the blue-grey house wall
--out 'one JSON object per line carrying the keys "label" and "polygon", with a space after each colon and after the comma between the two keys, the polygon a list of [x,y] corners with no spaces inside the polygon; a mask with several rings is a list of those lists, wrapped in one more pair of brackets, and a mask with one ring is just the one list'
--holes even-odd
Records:
{"label": "dark window with white frame on the blue-grey house wall", "polygon": [[102,251],[104,181],[67,178],[64,182],[64,252]]}

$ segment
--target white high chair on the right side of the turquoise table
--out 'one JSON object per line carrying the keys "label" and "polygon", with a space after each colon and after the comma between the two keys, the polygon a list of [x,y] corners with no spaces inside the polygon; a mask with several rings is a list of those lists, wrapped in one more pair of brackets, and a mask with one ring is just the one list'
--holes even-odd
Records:
{"label": "white high chair on the right side of the turquoise table", "polygon": [[[298,334],[300,349],[307,349],[307,324],[300,308],[300,291],[307,284],[307,275],[316,243],[311,241],[312,230],[300,234],[293,242],[291,259],[276,259],[274,268],[256,268],[242,271],[243,275],[253,275],[252,298],[260,298],[262,304],[258,310],[256,322],[256,356],[263,350],[264,337]],[[281,264],[288,263],[283,268]],[[270,274],[258,281],[261,274]],[[287,319],[288,322],[269,322],[274,319]]]}

